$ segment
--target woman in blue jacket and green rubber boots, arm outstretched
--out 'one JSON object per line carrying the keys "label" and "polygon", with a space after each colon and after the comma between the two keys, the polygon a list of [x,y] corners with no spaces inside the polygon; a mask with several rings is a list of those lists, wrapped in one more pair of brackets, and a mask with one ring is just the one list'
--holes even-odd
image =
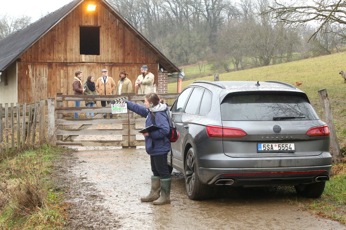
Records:
{"label": "woman in blue jacket and green rubber boots, arm outstretched", "polygon": [[146,118],[145,127],[151,126],[153,119],[155,119],[158,127],[156,130],[142,134],[145,137],[145,150],[150,155],[150,164],[154,175],[151,177],[150,193],[146,197],[141,197],[140,200],[154,201],[153,204],[168,204],[171,203],[171,176],[167,167],[167,153],[171,151],[171,143],[166,137],[170,131],[166,114],[168,107],[161,103],[156,93],[146,94],[144,105],[127,101],[129,110]]}

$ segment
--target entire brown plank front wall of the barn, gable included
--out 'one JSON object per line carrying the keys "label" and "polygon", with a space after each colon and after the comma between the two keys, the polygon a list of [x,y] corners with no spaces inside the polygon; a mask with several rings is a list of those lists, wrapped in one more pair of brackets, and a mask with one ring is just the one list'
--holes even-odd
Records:
{"label": "entire brown plank front wall of the barn, gable included", "polygon": [[[103,68],[117,83],[119,71],[126,70],[137,93],[134,82],[146,64],[157,85],[158,57],[102,5],[94,12],[87,12],[87,5],[82,2],[19,57],[18,102],[73,94],[77,70],[83,72],[83,83],[89,75],[100,77]],[[79,26],[100,27],[100,55],[79,54]]]}

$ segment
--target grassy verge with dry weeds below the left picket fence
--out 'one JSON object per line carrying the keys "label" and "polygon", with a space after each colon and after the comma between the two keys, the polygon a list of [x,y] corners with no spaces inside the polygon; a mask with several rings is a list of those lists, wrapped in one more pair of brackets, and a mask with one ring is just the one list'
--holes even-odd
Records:
{"label": "grassy verge with dry weeds below the left picket fence", "polygon": [[0,229],[62,229],[67,216],[62,192],[49,179],[63,148],[11,152],[0,161]]}

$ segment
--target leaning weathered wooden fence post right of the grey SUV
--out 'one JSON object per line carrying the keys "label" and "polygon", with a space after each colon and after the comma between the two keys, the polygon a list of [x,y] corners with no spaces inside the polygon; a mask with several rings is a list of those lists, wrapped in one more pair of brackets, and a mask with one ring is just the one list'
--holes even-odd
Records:
{"label": "leaning weathered wooden fence post right of the grey SUV", "polygon": [[320,89],[318,90],[318,94],[320,95],[320,99],[322,102],[323,111],[325,114],[326,122],[329,127],[330,131],[330,143],[331,143],[331,151],[333,155],[333,161],[334,162],[340,162],[340,159],[342,158],[340,154],[340,148],[339,148],[339,141],[336,136],[335,126],[334,126],[334,118],[333,113],[330,109],[330,103],[328,99],[328,94],[326,89]]}

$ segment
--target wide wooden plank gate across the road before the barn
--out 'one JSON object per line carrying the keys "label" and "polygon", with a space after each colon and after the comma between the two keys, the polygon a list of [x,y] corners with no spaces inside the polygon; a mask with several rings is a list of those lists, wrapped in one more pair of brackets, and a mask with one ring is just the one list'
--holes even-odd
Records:
{"label": "wide wooden plank gate across the road before the barn", "polygon": [[[161,99],[176,99],[179,93],[158,94]],[[56,145],[58,146],[144,146],[144,140],[136,139],[138,131],[144,127],[136,128],[136,123],[144,122],[145,118],[137,118],[131,111],[122,113],[118,119],[103,118],[104,114],[111,112],[111,104],[106,107],[63,107],[64,101],[111,101],[121,97],[143,105],[144,94],[133,93],[121,95],[62,95],[56,96]],[[66,104],[66,103],[65,103]],[[68,118],[73,113],[97,113],[92,118]],[[115,114],[114,114],[115,115]],[[81,117],[81,116],[79,116]],[[92,127],[93,126],[93,127]],[[117,126],[117,128],[115,128]],[[83,136],[83,138],[78,138]],[[108,137],[109,138],[108,138]],[[116,140],[110,136],[117,136]],[[86,140],[85,140],[85,137]],[[82,140],[81,140],[82,139]],[[112,139],[112,140],[111,140]]]}

